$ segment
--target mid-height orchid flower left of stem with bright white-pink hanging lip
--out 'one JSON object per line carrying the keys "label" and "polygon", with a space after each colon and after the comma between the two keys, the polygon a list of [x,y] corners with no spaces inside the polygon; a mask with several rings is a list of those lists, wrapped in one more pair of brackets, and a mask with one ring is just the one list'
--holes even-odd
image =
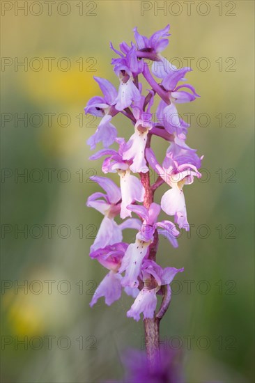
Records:
{"label": "mid-height orchid flower left of stem with bright white-pink hanging lip", "polygon": [[123,159],[123,151],[126,147],[125,140],[122,138],[116,139],[119,149],[116,150],[100,150],[90,159],[98,159],[104,155],[111,155],[107,157],[102,164],[102,171],[104,173],[118,173],[120,176],[121,184],[121,213],[122,219],[131,217],[131,211],[127,210],[127,205],[132,204],[134,201],[143,202],[145,190],[141,181],[130,173],[130,166],[132,161]]}

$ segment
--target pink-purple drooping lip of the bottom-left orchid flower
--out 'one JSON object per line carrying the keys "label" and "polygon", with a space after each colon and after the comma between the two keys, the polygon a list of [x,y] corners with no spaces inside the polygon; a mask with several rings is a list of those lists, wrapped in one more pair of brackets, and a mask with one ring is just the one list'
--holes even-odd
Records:
{"label": "pink-purple drooping lip of the bottom-left orchid flower", "polygon": [[95,290],[90,306],[92,307],[96,302],[98,302],[100,297],[105,297],[105,303],[108,306],[120,299],[121,278],[120,274],[109,272]]}

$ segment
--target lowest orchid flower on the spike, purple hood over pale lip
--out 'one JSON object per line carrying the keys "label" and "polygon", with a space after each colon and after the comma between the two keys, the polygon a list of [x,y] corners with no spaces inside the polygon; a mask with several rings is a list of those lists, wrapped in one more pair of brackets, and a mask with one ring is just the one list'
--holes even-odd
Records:
{"label": "lowest orchid flower on the spike, purple hood over pale lip", "polygon": [[[140,314],[144,314],[145,318],[153,318],[155,309],[157,306],[156,294],[160,290],[161,286],[169,285],[173,281],[174,276],[178,272],[183,272],[182,269],[176,269],[175,267],[166,267],[162,269],[160,265],[157,265],[153,260],[145,260],[141,269],[142,281],[144,282],[144,288],[141,289],[139,295],[135,299],[129,311],[127,311],[128,318],[134,318],[134,320],[140,319]],[[155,287],[151,288],[150,276],[153,276],[155,281]],[[171,288],[170,288],[171,294]]]}

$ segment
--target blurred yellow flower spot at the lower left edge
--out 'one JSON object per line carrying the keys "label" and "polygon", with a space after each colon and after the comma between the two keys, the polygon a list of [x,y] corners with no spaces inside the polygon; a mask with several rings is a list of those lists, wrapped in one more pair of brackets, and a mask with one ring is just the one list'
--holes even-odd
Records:
{"label": "blurred yellow flower spot at the lower left edge", "polygon": [[39,269],[38,272],[32,270],[31,279],[20,283],[13,281],[13,288],[3,296],[8,327],[15,336],[40,336],[49,329],[58,328],[61,318],[68,320],[67,301],[71,297],[57,290],[57,281],[61,281],[63,276],[60,275],[56,281],[52,278],[55,282],[49,288],[45,282],[49,279],[49,273],[48,269]]}

